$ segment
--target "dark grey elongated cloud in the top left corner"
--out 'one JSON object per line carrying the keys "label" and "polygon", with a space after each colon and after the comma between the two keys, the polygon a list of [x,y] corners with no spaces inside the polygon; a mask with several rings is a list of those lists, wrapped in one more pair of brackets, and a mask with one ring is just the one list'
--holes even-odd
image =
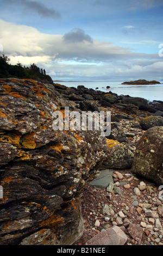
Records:
{"label": "dark grey elongated cloud in the top left corner", "polygon": [[47,8],[43,3],[29,0],[5,0],[5,5],[23,7],[26,11],[33,11],[41,17],[59,19],[60,13],[54,9]]}

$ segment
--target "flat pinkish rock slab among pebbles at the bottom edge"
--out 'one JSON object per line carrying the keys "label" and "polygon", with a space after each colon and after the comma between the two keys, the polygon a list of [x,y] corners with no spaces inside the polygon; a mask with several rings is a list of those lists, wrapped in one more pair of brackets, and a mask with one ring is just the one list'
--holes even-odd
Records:
{"label": "flat pinkish rock slab among pebbles at the bottom edge", "polygon": [[121,228],[108,228],[86,242],[86,245],[124,245],[127,242],[127,235]]}

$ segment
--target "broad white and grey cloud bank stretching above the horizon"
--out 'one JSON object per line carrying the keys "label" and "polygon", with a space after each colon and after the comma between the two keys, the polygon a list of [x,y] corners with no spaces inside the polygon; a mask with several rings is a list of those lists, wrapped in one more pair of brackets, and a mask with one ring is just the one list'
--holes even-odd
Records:
{"label": "broad white and grey cloud bank stretching above the horizon", "polygon": [[143,74],[146,79],[147,75],[162,74],[163,62],[158,54],[137,53],[111,42],[93,40],[80,28],[65,35],[45,34],[0,20],[0,44],[11,64],[35,63],[47,74],[67,80],[136,78]]}

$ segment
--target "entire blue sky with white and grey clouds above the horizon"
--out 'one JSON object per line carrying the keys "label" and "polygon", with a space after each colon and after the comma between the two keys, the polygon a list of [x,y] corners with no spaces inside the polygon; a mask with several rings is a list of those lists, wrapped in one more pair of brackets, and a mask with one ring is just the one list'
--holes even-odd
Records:
{"label": "entire blue sky with white and grey clouds above the horizon", "polygon": [[0,0],[0,51],[53,80],[163,79],[162,0]]}

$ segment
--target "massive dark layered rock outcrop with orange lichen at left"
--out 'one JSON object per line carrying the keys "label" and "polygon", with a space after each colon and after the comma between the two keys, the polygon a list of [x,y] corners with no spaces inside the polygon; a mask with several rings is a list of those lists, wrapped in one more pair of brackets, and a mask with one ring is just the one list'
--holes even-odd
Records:
{"label": "massive dark layered rock outcrop with orange lichen at left", "polygon": [[64,119],[65,107],[80,107],[66,100],[71,90],[29,79],[0,80],[1,245],[71,245],[84,230],[85,184],[104,161],[118,160],[122,168],[133,161],[124,145],[106,141],[101,131],[54,130],[55,111]]}

